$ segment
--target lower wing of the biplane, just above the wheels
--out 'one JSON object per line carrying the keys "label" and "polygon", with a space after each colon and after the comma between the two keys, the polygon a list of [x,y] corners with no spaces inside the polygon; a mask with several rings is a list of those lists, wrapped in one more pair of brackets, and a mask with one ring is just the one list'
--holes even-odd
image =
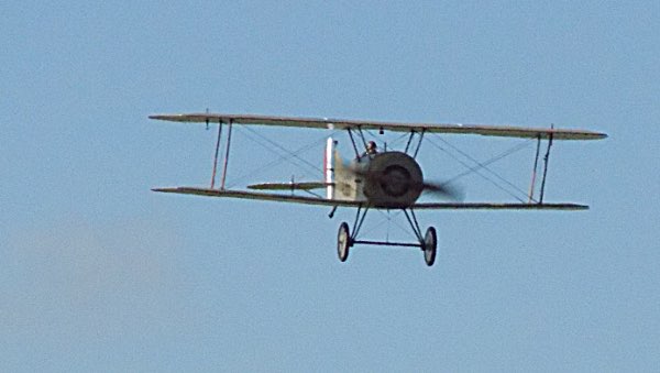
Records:
{"label": "lower wing of the biplane, just above the wheels", "polygon": [[[326,199],[319,197],[292,196],[282,194],[254,193],[245,190],[219,190],[196,187],[156,188],[154,191],[176,193],[208,197],[228,197],[242,199],[258,199],[279,202],[293,202],[330,207],[364,207],[366,202],[356,200]],[[588,206],[575,204],[483,204],[483,202],[440,202],[415,204],[414,209],[451,209],[451,210],[586,210]]]}

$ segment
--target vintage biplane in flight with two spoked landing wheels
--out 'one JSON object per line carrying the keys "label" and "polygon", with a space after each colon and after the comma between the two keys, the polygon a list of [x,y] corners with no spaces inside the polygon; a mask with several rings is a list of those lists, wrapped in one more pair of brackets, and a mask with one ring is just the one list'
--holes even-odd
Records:
{"label": "vintage biplane in flight with two spoked landing wheels", "polygon": [[[588,206],[571,202],[547,202],[543,200],[546,177],[550,150],[554,141],[564,140],[600,140],[605,133],[550,128],[522,128],[513,125],[482,124],[432,124],[432,123],[400,123],[384,121],[339,120],[288,118],[253,114],[221,114],[221,113],[185,113],[155,114],[148,118],[173,122],[194,122],[218,124],[218,139],[213,158],[213,169],[210,187],[172,187],[154,188],[160,193],[197,195],[207,197],[227,197],[306,204],[330,208],[332,218],[338,208],[356,209],[352,226],[342,222],[337,237],[337,253],[341,262],[345,262],[351,248],[358,244],[416,248],[421,250],[428,266],[433,265],[438,246],[436,228],[429,227],[422,233],[416,211],[421,210],[586,210]],[[304,128],[316,130],[333,130],[345,132],[351,142],[355,156],[351,161],[341,158],[337,150],[337,141],[328,138],[324,149],[323,178],[311,182],[262,183],[249,185],[243,189],[226,188],[227,167],[230,155],[232,127],[239,125],[275,125],[285,128]],[[227,128],[224,144],[223,168],[220,186],[216,187],[216,173],[222,138],[222,129]],[[404,149],[385,149],[377,151],[373,141],[367,141],[365,132],[403,132],[407,138]],[[429,134],[470,134],[482,136],[519,138],[536,140],[534,169],[527,201],[515,202],[465,202],[462,193],[448,183],[432,183],[425,179],[417,155]],[[538,189],[537,173],[540,167],[539,156],[542,144],[546,154],[542,158],[542,176],[540,179],[540,196],[535,197]],[[360,149],[366,151],[361,151]],[[403,147],[403,146],[402,146]],[[318,194],[295,194],[294,191],[310,191],[324,189],[324,196]],[[439,195],[443,201],[419,200],[422,191]],[[413,242],[392,242],[389,240],[365,240],[360,237],[361,228],[370,210],[400,210],[409,223],[414,234]]]}

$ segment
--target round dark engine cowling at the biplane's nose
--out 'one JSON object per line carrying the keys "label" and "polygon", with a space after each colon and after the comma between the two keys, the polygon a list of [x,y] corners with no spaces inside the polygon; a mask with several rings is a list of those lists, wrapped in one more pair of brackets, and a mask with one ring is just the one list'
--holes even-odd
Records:
{"label": "round dark engine cowling at the biplane's nose", "polygon": [[419,164],[403,152],[372,156],[364,177],[364,196],[377,207],[405,208],[419,198],[424,175]]}

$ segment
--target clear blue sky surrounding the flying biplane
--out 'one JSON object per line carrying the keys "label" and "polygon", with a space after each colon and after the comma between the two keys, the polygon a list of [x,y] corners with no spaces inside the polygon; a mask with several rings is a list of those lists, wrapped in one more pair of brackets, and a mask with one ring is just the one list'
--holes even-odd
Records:
{"label": "clear blue sky surrounding the flying biplane", "polygon": [[[3,2],[0,370],[658,370],[659,24],[658,1]],[[351,211],[150,191],[207,185],[215,138],[146,117],[206,108],[610,138],[554,147],[547,198],[587,212],[426,212],[435,267],[339,263]],[[273,156],[234,145],[230,178]],[[525,188],[532,151],[494,168]]]}

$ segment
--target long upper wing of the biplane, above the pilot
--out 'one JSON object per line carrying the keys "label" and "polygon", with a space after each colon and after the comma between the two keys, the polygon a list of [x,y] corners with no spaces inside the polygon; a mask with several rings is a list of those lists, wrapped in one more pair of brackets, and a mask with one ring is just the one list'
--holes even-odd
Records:
{"label": "long upper wing of the biplane, above the pilot", "polygon": [[377,122],[362,120],[343,120],[328,118],[292,118],[292,117],[270,117],[270,116],[243,116],[243,114],[216,114],[216,113],[190,113],[190,114],[156,114],[150,116],[151,119],[167,120],[174,122],[229,122],[240,124],[263,124],[299,127],[312,129],[363,129],[377,131],[398,131],[398,132],[432,132],[432,133],[463,133],[480,134],[485,136],[505,136],[505,138],[541,138],[553,140],[598,140],[607,138],[607,134],[586,130],[570,129],[540,129],[522,128],[513,125],[484,125],[484,124],[442,124],[442,123],[398,123],[398,122]]}

